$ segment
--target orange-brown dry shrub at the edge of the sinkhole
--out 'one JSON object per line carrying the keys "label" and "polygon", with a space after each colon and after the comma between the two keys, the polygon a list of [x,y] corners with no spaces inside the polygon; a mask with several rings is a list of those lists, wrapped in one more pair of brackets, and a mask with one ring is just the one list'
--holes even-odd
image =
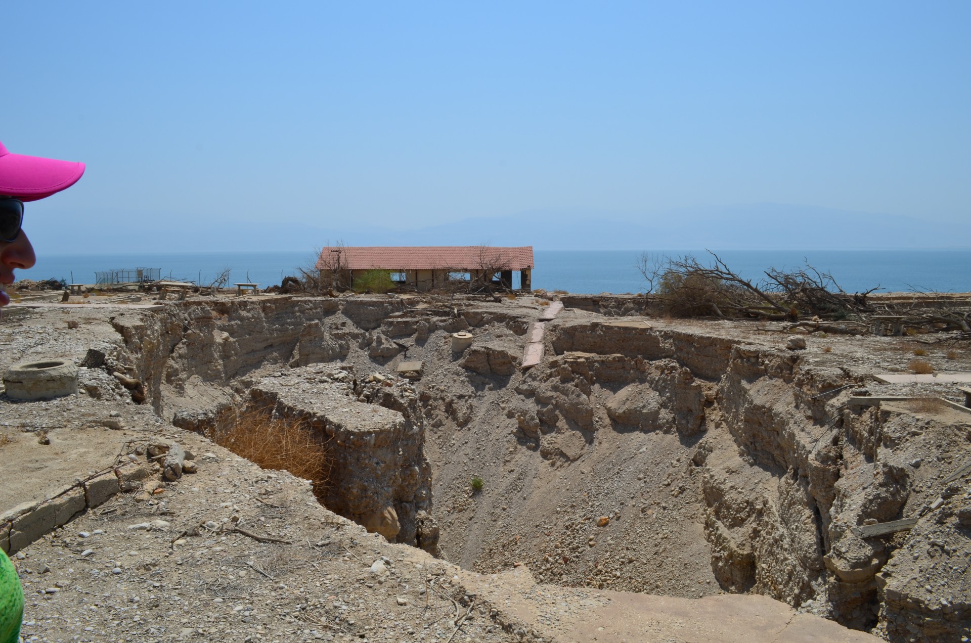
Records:
{"label": "orange-brown dry shrub at the edge of the sinkhole", "polygon": [[327,439],[306,420],[278,418],[270,411],[248,409],[235,417],[221,418],[209,437],[220,447],[245,457],[264,469],[285,469],[311,481],[314,493],[323,497],[330,475]]}

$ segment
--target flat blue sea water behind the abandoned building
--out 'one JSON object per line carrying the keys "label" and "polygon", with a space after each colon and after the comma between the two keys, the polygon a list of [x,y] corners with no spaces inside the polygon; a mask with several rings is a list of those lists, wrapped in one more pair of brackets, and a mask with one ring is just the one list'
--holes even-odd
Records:
{"label": "flat blue sea water behind the abandoned building", "polygon": [[[657,256],[693,254],[701,262],[712,258],[705,251],[672,253],[648,251]],[[570,292],[643,292],[647,288],[636,264],[640,253],[631,251],[543,251],[534,253],[533,288]],[[971,250],[906,251],[725,251],[719,257],[729,268],[754,282],[769,268],[804,267],[806,262],[830,273],[848,292],[880,286],[884,291],[971,291]],[[159,268],[165,279],[209,284],[223,269],[229,283],[280,284],[297,268],[313,264],[306,252],[172,253],[172,254],[42,254],[30,270],[18,270],[17,279],[64,279],[94,284],[97,271],[121,268]],[[514,286],[519,286],[515,273]]]}

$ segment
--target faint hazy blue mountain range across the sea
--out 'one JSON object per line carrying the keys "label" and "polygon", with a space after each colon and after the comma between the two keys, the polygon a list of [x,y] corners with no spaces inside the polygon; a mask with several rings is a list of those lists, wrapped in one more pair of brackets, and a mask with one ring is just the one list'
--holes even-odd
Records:
{"label": "faint hazy blue mountain range across the sea", "polygon": [[[971,248],[971,223],[922,220],[811,206],[756,204],[690,208],[642,217],[596,210],[542,210],[455,220],[414,229],[332,220],[178,220],[164,214],[90,227],[84,217],[26,226],[39,252],[283,251],[328,242],[348,246],[533,246],[537,250],[887,250]],[[25,221],[29,223],[29,221]]]}

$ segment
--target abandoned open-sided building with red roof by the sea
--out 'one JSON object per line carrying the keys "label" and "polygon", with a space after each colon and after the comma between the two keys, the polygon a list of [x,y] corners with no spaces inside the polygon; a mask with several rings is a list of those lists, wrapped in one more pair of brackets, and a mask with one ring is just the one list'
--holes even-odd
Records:
{"label": "abandoned open-sided building with red roof by the sea", "polygon": [[317,262],[320,280],[350,288],[368,270],[387,270],[399,286],[418,290],[444,288],[455,282],[513,288],[519,271],[519,289],[529,292],[533,247],[493,246],[354,246],[326,247]]}

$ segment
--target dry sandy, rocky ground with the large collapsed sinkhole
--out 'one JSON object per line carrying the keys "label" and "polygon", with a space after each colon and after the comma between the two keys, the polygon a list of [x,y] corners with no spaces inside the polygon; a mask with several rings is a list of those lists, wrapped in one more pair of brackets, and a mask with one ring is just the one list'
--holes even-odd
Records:
{"label": "dry sandy, rocky ground with the large collapsed sinkhole", "polygon": [[[874,379],[915,351],[971,370],[966,348],[813,334],[790,351],[772,324],[628,323],[645,318],[622,297],[537,322],[548,304],[196,297],[7,315],[0,369],[106,360],[79,369],[78,394],[0,396],[17,471],[0,513],[63,505],[52,496],[102,472],[127,490],[19,548],[25,639],[971,636],[971,414],[958,385]],[[537,323],[545,355],[523,370]],[[459,330],[475,341],[453,353]],[[396,374],[416,359],[420,379]],[[328,440],[318,497],[207,439],[248,405]],[[153,444],[198,471],[166,480]],[[901,519],[916,522],[864,529]]]}

